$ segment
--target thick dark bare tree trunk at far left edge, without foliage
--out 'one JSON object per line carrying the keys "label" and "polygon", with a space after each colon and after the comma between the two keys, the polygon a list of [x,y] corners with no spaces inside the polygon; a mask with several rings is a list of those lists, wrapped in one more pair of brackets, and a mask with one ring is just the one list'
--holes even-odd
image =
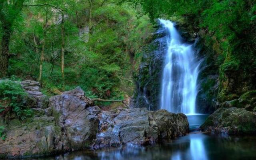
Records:
{"label": "thick dark bare tree trunk at far left edge, without foliage", "polygon": [[5,77],[9,64],[9,42],[11,29],[8,26],[2,26],[2,41],[0,50],[0,78]]}

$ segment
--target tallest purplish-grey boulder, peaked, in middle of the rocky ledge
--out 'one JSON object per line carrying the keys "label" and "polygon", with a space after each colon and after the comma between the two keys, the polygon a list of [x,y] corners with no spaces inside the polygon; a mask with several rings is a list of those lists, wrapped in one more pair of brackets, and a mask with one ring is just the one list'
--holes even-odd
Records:
{"label": "tallest purplish-grey boulder, peaked, in middle of the rocky ledge", "polygon": [[99,121],[86,110],[86,104],[84,91],[80,87],[50,98],[49,106],[56,123],[62,127],[72,150],[89,147],[98,131]]}

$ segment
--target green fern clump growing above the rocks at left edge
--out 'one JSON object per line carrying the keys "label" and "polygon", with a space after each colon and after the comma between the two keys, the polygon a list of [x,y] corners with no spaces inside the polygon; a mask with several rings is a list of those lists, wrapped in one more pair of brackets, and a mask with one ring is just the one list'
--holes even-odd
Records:
{"label": "green fern clump growing above the rocks at left edge", "polygon": [[32,111],[25,106],[26,96],[28,94],[17,82],[0,80],[0,115],[21,120],[32,116]]}

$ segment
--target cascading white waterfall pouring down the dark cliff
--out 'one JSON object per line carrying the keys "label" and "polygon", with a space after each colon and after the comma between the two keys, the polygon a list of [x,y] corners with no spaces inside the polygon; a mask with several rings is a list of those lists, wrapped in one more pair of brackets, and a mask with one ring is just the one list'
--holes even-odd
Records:
{"label": "cascading white waterfall pouring down the dark cliff", "polygon": [[196,114],[196,81],[200,62],[192,45],[182,43],[174,23],[159,19],[169,36],[162,76],[161,109]]}

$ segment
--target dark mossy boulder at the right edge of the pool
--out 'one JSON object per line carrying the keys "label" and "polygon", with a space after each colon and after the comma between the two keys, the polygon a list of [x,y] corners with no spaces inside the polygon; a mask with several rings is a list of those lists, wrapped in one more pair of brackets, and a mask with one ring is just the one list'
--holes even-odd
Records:
{"label": "dark mossy boulder at the right edge of the pool", "polygon": [[245,108],[219,108],[200,127],[206,132],[255,134],[256,114]]}

